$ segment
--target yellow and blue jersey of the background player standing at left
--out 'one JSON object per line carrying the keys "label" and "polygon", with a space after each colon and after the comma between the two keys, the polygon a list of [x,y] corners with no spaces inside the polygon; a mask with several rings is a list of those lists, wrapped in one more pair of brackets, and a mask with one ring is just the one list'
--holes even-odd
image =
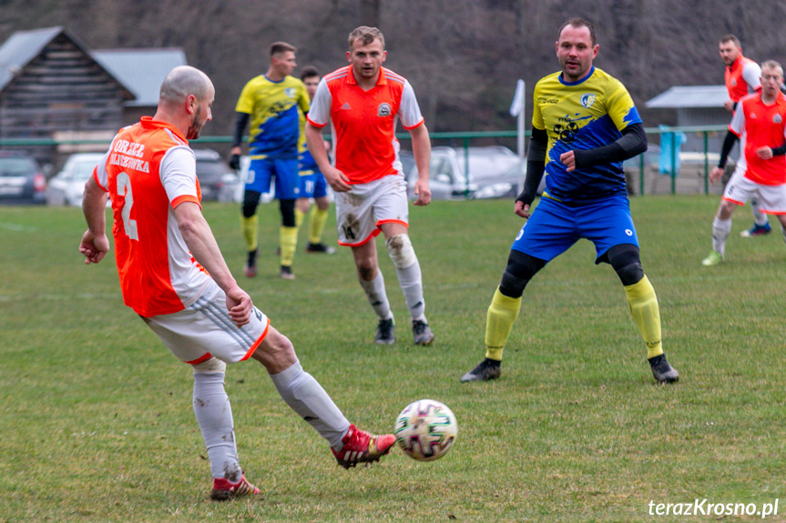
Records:
{"label": "yellow and blue jersey of the background player standing at left", "polygon": [[309,111],[309,95],[301,80],[293,76],[280,82],[265,75],[251,78],[240,93],[235,111],[251,116],[252,160],[298,157],[301,116]]}

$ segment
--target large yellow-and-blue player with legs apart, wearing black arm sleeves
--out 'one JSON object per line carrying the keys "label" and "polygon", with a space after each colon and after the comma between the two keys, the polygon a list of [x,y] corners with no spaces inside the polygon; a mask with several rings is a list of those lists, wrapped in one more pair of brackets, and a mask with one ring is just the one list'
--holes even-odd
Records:
{"label": "large yellow-and-blue player with legs apart, wearing black arm sleeves", "polygon": [[[599,48],[595,27],[571,18],[557,35],[562,70],[535,87],[526,183],[515,201],[515,214],[528,221],[515,237],[488,307],[485,359],[461,380],[500,376],[502,353],[526,284],[549,261],[586,238],[595,244],[595,263],[611,265],[625,287],[653,376],[658,383],[675,382],[679,373],[661,347],[658,298],[639,260],[622,171],[624,160],[647,150],[644,126],[625,86],[592,65]],[[546,191],[530,216],[544,171]]]}

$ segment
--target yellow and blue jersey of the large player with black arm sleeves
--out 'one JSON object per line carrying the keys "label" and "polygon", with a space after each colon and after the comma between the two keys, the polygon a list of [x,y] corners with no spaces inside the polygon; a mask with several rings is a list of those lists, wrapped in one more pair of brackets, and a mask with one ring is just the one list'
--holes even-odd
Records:
{"label": "yellow and blue jersey of the large player with black arm sleeves", "polygon": [[625,85],[592,67],[586,78],[563,81],[561,73],[535,86],[532,126],[546,129],[546,197],[581,204],[613,195],[627,195],[622,162],[577,168],[568,173],[559,156],[569,150],[594,149],[617,141],[623,129],[640,124]]}

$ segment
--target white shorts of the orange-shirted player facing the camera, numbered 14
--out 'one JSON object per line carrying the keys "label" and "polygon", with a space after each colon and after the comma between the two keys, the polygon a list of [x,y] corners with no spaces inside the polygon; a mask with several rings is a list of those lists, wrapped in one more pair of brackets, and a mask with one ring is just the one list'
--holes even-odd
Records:
{"label": "white shorts of the orange-shirted player facing the camera, numbered 14", "polygon": [[367,184],[355,184],[336,193],[336,226],[339,245],[362,246],[380,234],[383,224],[409,226],[406,179],[389,175]]}

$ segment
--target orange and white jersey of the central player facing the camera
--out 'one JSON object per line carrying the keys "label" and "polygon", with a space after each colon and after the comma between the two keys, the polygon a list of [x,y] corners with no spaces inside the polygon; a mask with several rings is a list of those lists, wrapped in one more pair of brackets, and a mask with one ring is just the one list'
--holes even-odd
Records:
{"label": "orange and white jersey of the central player facing the camera", "polygon": [[317,87],[307,116],[315,127],[331,123],[335,166],[350,184],[364,184],[402,172],[397,120],[406,130],[424,123],[412,85],[390,69],[363,91],[352,75],[352,65],[325,75]]}

